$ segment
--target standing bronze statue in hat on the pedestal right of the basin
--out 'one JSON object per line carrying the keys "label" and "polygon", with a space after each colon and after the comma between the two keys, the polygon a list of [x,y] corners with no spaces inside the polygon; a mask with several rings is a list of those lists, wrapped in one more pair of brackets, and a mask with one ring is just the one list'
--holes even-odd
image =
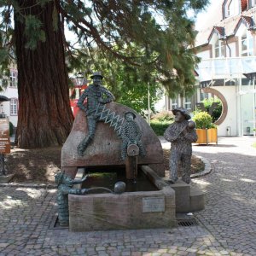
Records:
{"label": "standing bronze statue in hat on the pedestal right of the basin", "polygon": [[169,182],[177,182],[177,169],[180,166],[182,179],[189,184],[192,156],[191,143],[195,143],[197,140],[195,122],[189,121],[191,117],[186,108],[175,108],[172,113],[175,115],[175,122],[164,133],[166,140],[171,142]]}

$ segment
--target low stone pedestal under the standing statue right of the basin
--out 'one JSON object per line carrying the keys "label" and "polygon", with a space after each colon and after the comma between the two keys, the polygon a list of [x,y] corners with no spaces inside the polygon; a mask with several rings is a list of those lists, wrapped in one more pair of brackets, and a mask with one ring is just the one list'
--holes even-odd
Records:
{"label": "low stone pedestal under the standing statue right of the basin", "polygon": [[205,208],[204,193],[201,190],[191,188],[180,179],[170,186],[175,190],[177,213],[196,212]]}

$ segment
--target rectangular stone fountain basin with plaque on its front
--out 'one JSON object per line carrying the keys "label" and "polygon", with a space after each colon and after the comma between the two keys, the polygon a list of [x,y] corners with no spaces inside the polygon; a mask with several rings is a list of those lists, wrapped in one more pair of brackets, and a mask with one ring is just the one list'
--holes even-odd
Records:
{"label": "rectangular stone fountain basin with plaque on its front", "polygon": [[68,195],[71,231],[171,228],[176,225],[175,191],[142,166],[157,191]]}

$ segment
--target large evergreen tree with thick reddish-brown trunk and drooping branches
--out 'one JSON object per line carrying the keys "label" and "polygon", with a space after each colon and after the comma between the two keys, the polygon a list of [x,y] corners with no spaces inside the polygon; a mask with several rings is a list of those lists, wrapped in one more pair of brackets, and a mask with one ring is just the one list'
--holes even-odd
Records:
{"label": "large evergreen tree with thick reddish-brown trunk and drooping branches", "polygon": [[[110,65],[122,60],[132,78],[163,84],[172,96],[193,88],[195,32],[187,10],[202,9],[207,0],[0,0],[0,61],[15,51],[18,67],[21,148],[65,141],[73,124],[69,108],[67,66],[79,68],[84,55],[98,49]],[[12,28],[14,17],[15,28]],[[64,37],[64,24],[82,45],[76,51]],[[81,49],[86,47],[86,51]],[[136,86],[136,84],[133,84]]]}

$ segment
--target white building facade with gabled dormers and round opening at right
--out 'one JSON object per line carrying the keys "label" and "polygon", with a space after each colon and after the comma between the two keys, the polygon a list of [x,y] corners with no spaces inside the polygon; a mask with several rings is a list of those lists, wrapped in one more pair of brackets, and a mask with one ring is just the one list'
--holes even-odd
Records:
{"label": "white building facade with gabled dormers and round opening at right", "polygon": [[[205,97],[217,96],[223,105],[218,135],[255,135],[256,1],[224,0],[208,19],[196,37],[201,62],[191,110]],[[166,109],[189,105],[188,99],[178,101],[166,98]]]}

